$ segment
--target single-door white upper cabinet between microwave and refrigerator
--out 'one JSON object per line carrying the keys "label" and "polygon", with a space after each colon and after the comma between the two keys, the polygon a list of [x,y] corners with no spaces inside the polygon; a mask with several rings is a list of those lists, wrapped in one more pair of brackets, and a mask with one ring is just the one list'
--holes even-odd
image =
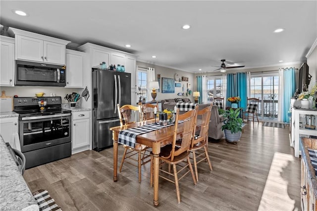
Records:
{"label": "single-door white upper cabinet between microwave and refrigerator", "polygon": [[83,88],[83,52],[66,49],[66,87]]}

